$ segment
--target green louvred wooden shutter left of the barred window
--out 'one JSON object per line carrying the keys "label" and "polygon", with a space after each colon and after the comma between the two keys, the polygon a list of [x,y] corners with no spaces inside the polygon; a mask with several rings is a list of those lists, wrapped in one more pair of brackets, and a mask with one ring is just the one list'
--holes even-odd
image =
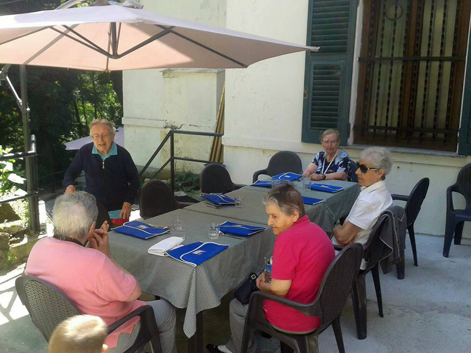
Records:
{"label": "green louvred wooden shutter left of the barred window", "polygon": [[318,143],[328,128],[346,145],[358,0],[310,0],[302,142]]}

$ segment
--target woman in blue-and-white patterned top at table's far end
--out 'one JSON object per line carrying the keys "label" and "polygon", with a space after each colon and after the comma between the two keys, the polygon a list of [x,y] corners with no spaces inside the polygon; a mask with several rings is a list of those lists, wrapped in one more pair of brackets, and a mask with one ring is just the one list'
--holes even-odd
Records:
{"label": "woman in blue-and-white patterned top at table's far end", "polygon": [[303,176],[310,176],[312,180],[347,180],[350,157],[339,148],[339,131],[325,130],[320,137],[320,143],[323,151],[314,155]]}

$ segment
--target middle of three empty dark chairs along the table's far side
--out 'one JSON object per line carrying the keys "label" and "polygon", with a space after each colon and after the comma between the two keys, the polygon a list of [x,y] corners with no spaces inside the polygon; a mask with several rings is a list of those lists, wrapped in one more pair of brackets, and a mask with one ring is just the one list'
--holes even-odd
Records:
{"label": "middle of three empty dark chairs along the table's far side", "polygon": [[208,164],[200,173],[200,191],[205,194],[227,193],[240,189],[241,184],[235,184],[224,166],[217,163]]}

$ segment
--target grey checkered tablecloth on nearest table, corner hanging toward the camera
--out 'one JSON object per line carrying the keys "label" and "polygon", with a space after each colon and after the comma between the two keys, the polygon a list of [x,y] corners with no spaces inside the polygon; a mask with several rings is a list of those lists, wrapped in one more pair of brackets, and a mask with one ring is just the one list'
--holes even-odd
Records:
{"label": "grey checkered tablecloth on nearest table, corner hanging toward the camera", "polygon": [[[181,220],[186,229],[183,244],[210,241],[208,231],[212,223],[237,222],[233,218],[188,210],[175,210],[144,222],[171,226],[174,219]],[[252,222],[246,224],[260,226]],[[271,256],[275,243],[271,228],[245,239],[221,236],[215,242],[227,244],[229,248],[193,267],[168,256],[147,252],[152,245],[169,236],[172,234],[141,240],[111,231],[110,251],[112,258],[136,277],[144,292],[186,308],[183,331],[187,337],[196,332],[196,314],[218,306],[221,298],[239,286],[249,273],[262,270],[263,259]]]}

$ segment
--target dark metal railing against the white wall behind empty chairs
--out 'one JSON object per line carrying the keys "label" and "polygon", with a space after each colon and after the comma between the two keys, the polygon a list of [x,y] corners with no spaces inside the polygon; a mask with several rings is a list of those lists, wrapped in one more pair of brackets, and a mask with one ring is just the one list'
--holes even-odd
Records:
{"label": "dark metal railing against the white wall behind empty chairs", "polygon": [[222,133],[216,133],[216,132],[170,130],[167,133],[167,135],[164,137],[162,142],[160,142],[160,145],[158,145],[156,151],[152,154],[151,158],[147,161],[144,168],[142,168],[141,172],[139,173],[139,179],[142,177],[142,175],[147,170],[147,168],[151,165],[152,161],[156,158],[158,152],[163,148],[163,146],[168,141],[168,139],[170,139],[170,158],[168,158],[167,161],[157,170],[157,172],[154,173],[154,175],[151,177],[151,179],[154,179],[170,163],[170,188],[172,189],[172,191],[175,191],[175,184],[174,184],[174,180],[175,180],[175,160],[183,160],[183,161],[199,162],[199,163],[222,164],[222,163],[219,163],[219,162],[213,162],[213,161],[205,160],[205,159],[176,157],[175,156],[175,149],[174,149],[174,135],[175,134],[196,135],[196,136],[213,136],[213,137],[218,137],[218,136],[223,136],[224,135]]}

